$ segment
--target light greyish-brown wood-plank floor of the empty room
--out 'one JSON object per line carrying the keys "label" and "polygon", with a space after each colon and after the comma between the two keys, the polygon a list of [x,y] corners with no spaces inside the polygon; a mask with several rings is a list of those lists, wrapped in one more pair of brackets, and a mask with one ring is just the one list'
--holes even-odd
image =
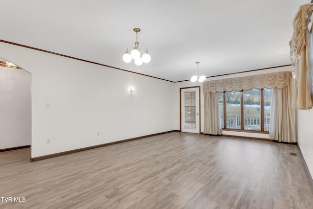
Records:
{"label": "light greyish-brown wood-plank floor of the empty room", "polygon": [[0,197],[25,198],[1,209],[313,209],[297,145],[173,132],[29,157],[0,153]]}

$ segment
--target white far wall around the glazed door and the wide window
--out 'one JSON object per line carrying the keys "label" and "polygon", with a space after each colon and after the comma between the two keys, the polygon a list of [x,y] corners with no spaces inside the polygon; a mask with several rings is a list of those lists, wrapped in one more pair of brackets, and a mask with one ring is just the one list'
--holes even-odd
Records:
{"label": "white far wall around the glazed door and the wide window", "polygon": [[[251,69],[252,70],[252,69]],[[249,76],[249,75],[258,75],[258,74],[266,74],[266,73],[272,73],[272,72],[279,72],[279,71],[292,71],[294,70],[291,66],[286,67],[280,67],[280,68],[272,68],[267,70],[257,70],[257,71],[251,71],[251,72],[243,72],[243,73],[237,73],[237,74],[231,74],[231,75],[223,75],[223,76],[217,76],[217,77],[211,77],[206,78],[207,81],[209,80],[219,80],[219,79],[225,79],[225,78],[235,78],[235,77],[243,77],[243,76]],[[205,70],[202,70],[205,71]],[[203,114],[204,114],[204,97],[202,92],[202,84],[196,81],[195,83],[191,83],[191,81],[183,81],[175,83],[175,118],[176,118],[176,124],[175,129],[179,130],[179,89],[184,87],[191,87],[191,86],[201,86],[201,132],[203,132]],[[263,138],[263,139],[269,139],[268,134],[260,134],[260,133],[247,133],[247,132],[238,132],[238,131],[223,131],[224,135],[233,135],[233,136],[242,136],[242,137],[254,137],[254,138]]]}

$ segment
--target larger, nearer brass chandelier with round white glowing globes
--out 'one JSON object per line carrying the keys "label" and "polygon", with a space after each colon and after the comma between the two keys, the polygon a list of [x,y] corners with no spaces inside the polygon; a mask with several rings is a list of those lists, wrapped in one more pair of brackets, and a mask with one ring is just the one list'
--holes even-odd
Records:
{"label": "larger, nearer brass chandelier with round white glowing globes", "polygon": [[[138,42],[138,33],[140,32],[139,28],[134,28],[134,32],[136,32],[136,41],[135,41],[135,46],[131,53],[129,53],[128,47],[126,49],[125,54],[123,55],[123,60],[126,63],[130,63],[132,59],[134,59],[136,65],[142,65],[142,63],[148,63],[151,60],[150,54],[148,54],[148,49],[146,47],[141,47],[139,48],[139,42]],[[138,49],[139,48],[139,49]],[[140,57],[140,50],[142,48],[146,49],[146,52]]]}

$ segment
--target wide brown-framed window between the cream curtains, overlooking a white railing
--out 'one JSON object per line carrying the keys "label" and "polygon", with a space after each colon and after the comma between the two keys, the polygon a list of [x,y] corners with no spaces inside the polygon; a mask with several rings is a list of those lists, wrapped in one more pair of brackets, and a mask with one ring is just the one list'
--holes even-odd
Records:
{"label": "wide brown-framed window between the cream curtains, overlooking a white railing", "polygon": [[219,104],[224,129],[269,131],[269,89],[219,93]]}

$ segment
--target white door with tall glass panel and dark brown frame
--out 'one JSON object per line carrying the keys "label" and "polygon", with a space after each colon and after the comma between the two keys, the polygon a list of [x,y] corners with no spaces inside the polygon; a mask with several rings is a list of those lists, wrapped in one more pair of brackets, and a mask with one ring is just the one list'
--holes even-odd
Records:
{"label": "white door with tall glass panel and dark brown frame", "polygon": [[200,134],[200,86],[180,89],[180,131]]}

